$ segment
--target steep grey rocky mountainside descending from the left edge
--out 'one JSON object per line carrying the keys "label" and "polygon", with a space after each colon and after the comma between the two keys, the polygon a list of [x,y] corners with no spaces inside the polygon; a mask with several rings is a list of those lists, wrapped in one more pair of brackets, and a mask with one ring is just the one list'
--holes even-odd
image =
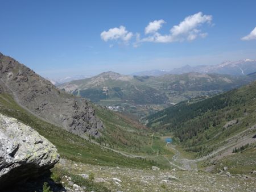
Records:
{"label": "steep grey rocky mountainside descending from the left edge", "polygon": [[40,118],[77,135],[100,136],[103,124],[85,99],[57,89],[25,65],[0,53],[0,85]]}

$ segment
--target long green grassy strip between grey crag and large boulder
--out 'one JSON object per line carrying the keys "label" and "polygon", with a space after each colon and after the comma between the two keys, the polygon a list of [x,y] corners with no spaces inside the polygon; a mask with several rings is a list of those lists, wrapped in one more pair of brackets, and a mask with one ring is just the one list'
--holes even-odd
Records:
{"label": "long green grassy strip between grey crag and large boulder", "polygon": [[156,162],[150,160],[119,155],[60,127],[53,126],[24,110],[16,104],[10,95],[5,93],[0,94],[0,112],[34,128],[57,147],[63,158],[76,162],[108,166],[150,168],[151,165],[156,164]]}

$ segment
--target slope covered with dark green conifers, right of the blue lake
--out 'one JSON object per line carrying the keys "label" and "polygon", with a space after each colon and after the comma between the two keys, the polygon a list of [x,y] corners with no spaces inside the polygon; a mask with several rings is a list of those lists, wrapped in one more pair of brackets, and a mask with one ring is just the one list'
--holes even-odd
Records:
{"label": "slope covered with dark green conifers, right of the blue lake", "polygon": [[184,101],[148,116],[155,131],[173,132],[185,151],[207,155],[256,124],[256,82],[207,99]]}

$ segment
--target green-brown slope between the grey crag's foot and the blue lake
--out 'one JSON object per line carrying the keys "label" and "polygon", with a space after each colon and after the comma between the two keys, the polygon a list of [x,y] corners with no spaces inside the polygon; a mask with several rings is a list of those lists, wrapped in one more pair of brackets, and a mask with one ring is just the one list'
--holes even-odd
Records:
{"label": "green-brown slope between the grey crag's foot and the blue lake", "polygon": [[119,112],[95,106],[97,116],[104,122],[103,136],[96,139],[98,143],[120,151],[135,153],[170,167],[164,155],[171,158],[174,153],[159,136],[152,137],[152,130],[122,115]]}

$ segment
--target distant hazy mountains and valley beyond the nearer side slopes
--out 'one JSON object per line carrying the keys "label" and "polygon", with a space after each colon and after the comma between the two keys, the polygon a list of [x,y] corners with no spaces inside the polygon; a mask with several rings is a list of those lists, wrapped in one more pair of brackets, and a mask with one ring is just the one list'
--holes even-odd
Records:
{"label": "distant hazy mountains and valley beyond the nearer side slopes", "polygon": [[140,77],[106,72],[59,85],[59,88],[103,106],[119,106],[123,112],[141,119],[167,108],[171,103],[218,94],[253,80],[254,76],[233,77],[221,74],[187,73]]}

